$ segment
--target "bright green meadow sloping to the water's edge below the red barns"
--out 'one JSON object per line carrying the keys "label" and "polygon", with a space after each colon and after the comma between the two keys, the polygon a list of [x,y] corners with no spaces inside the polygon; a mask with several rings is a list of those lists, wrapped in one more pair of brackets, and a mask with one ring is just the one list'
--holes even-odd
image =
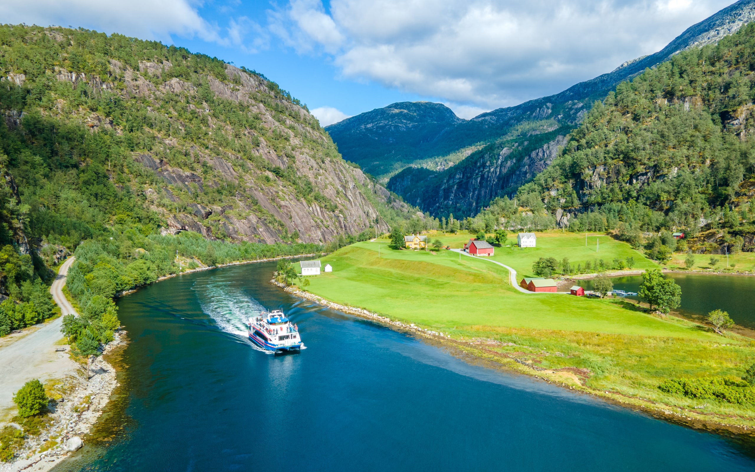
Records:
{"label": "bright green meadow sloping to the water's edge below the red barns", "polygon": [[673,316],[658,318],[621,300],[522,294],[506,283],[502,267],[476,258],[460,261],[451,251],[393,251],[383,244],[378,258],[378,244],[357,243],[323,258],[333,272],[309,277],[307,289],[455,340],[495,341],[477,353],[517,369],[522,362],[544,369],[523,367],[581,390],[687,409],[707,424],[755,426],[751,406],[658,390],[667,378],[738,379],[755,359],[755,342],[748,338],[716,335]]}

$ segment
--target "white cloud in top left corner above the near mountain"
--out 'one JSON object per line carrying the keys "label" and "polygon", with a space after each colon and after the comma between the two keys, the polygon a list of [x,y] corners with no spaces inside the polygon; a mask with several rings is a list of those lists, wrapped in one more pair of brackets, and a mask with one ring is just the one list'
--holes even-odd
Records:
{"label": "white cloud in top left corner above the near mountain", "polygon": [[200,4],[190,0],[24,0],[0,2],[4,23],[40,26],[87,26],[142,39],[170,42],[171,34],[226,42],[199,16]]}

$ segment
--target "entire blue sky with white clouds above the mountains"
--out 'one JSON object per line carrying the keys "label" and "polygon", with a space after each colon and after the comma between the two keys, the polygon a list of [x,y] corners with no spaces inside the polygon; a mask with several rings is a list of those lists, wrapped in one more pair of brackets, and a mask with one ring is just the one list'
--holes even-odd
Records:
{"label": "entire blue sky with white clouds above the mountains", "polygon": [[471,118],[660,50],[731,0],[25,0],[5,23],[83,26],[263,73],[324,125],[404,100]]}

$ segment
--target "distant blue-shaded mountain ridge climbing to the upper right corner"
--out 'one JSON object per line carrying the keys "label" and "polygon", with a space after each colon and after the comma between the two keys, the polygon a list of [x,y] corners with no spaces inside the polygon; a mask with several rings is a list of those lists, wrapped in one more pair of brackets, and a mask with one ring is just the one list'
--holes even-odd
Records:
{"label": "distant blue-shaded mountain ridge climbing to the upper right corner", "polygon": [[[360,131],[374,126],[367,114],[331,125],[326,130],[330,132],[337,127],[337,133],[332,136],[346,159],[357,159],[352,157],[352,150],[361,149],[358,157],[361,162],[386,162],[390,166],[382,169],[393,172],[399,167],[408,167],[395,176],[386,174],[392,177],[387,187],[412,205],[436,216],[451,212],[457,216],[472,215],[495,196],[512,196],[520,185],[545,168],[555,157],[551,152],[553,146],[581,122],[595,100],[605,98],[619,82],[668,60],[679,51],[716,42],[753,18],[755,0],[741,0],[689,27],[655,54],[627,61],[612,72],[559,94],[461,120],[443,128],[429,142],[415,144],[413,150],[407,147],[411,138],[405,136],[403,128],[395,128],[391,135],[383,134],[379,145],[371,135]],[[359,128],[351,123],[358,124]],[[381,126],[390,129],[390,123]],[[547,143],[541,142],[545,135],[551,137]],[[463,165],[457,163],[461,159],[446,157],[453,153],[458,156],[460,151],[469,153],[461,161]],[[397,155],[404,164],[397,165]],[[450,165],[439,169],[432,165],[435,162]],[[372,165],[372,168],[381,168]],[[432,172],[416,169],[421,167]]]}

